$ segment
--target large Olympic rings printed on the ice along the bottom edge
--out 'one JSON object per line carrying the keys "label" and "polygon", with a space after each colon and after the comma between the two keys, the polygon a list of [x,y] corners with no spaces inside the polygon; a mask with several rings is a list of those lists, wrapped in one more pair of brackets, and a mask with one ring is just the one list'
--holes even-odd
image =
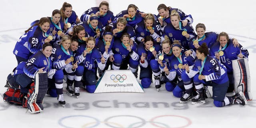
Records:
{"label": "large Olympic rings printed on the ice along the bottom edge", "polygon": [[[121,120],[125,118],[125,120],[130,120],[130,121],[134,120],[135,118],[140,121],[134,122],[132,124],[127,124],[127,122],[130,122],[130,121],[123,121],[124,123],[126,123],[126,125],[128,125],[128,127],[125,127],[123,123],[121,124],[117,122],[117,120],[120,120],[120,118]],[[64,123],[66,123],[67,125],[71,124],[71,126],[67,126]],[[82,128],[96,128],[96,127],[100,127],[99,125],[103,123],[110,128],[142,128],[142,126],[145,126],[147,123],[148,125],[150,124],[153,125],[155,128],[186,128],[192,124],[189,118],[186,118],[184,116],[178,116],[178,115],[156,116],[150,119],[149,121],[146,121],[143,118],[140,118],[138,116],[131,116],[131,115],[110,116],[106,118],[104,121],[100,121],[95,117],[85,116],[85,115],[66,116],[58,120],[58,124],[64,128],[77,128],[77,127],[81,128],[81,125],[82,125]],[[77,124],[77,126],[74,126],[74,124]],[[170,127],[169,124],[171,124],[172,127]],[[152,126],[146,126],[146,127],[151,128]]]}

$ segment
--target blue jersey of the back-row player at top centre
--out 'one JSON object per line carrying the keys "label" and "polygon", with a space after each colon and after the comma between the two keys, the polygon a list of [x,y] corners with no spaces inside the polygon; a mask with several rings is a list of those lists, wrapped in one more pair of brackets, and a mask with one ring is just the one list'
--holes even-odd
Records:
{"label": "blue jersey of the back-row player at top centre", "polygon": [[[126,18],[128,25],[130,25],[130,26],[132,26],[132,27],[135,27],[136,24],[138,24],[139,22],[141,22],[141,21],[144,20],[144,18],[141,16],[141,14],[140,14],[139,12],[140,12],[140,11],[137,10],[135,16],[134,16],[132,19]],[[141,12],[141,13],[143,13],[143,12]],[[125,14],[128,14],[128,11],[127,11],[127,10],[124,10],[124,11],[120,12],[119,14],[117,14],[117,15],[115,16],[115,18],[114,18],[114,21],[117,22],[118,18],[119,18],[119,17],[123,17]]]}

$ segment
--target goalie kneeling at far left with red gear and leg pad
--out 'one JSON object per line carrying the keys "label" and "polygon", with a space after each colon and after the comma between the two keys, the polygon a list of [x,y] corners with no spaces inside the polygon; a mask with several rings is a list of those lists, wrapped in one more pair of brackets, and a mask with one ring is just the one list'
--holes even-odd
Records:
{"label": "goalie kneeling at far left with red gear and leg pad", "polygon": [[5,102],[22,105],[31,113],[44,110],[47,75],[52,67],[51,54],[52,45],[44,43],[42,51],[36,52],[27,62],[18,64],[14,74],[9,74],[7,78],[10,86],[3,95]]}

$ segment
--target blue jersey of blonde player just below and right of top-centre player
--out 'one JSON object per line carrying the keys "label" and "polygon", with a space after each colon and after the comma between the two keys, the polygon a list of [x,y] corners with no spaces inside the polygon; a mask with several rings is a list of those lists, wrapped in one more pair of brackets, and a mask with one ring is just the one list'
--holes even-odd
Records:
{"label": "blue jersey of blonde player just below and right of top-centre player", "polygon": [[149,30],[146,28],[144,21],[139,22],[135,26],[135,32],[137,35],[137,40],[141,42],[142,38],[145,38],[146,36],[152,36],[154,40],[156,40],[158,37],[162,35],[162,32],[160,30],[160,25],[155,21],[152,25],[152,29],[154,29],[154,34],[151,34]]}

